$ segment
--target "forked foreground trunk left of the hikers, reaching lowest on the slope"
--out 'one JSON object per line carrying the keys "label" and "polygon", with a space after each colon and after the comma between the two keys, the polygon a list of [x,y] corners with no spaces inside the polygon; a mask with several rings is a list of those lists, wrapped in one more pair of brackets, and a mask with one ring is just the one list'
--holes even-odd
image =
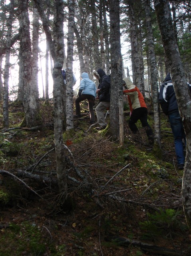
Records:
{"label": "forked foreground trunk left of the hikers, reaching lowest on the slope", "polygon": [[63,40],[63,1],[55,0],[54,5],[54,40],[51,37],[49,30],[49,22],[45,16],[44,10],[40,0],[34,0],[43,28],[46,34],[46,38],[49,44],[49,49],[54,62],[53,68],[53,120],[54,120],[54,143],[56,151],[56,165],[57,165],[57,179],[59,191],[63,194],[64,198],[67,197],[67,175],[66,175],[66,162],[63,145],[63,120],[64,117],[64,105],[63,105],[63,77],[61,75],[61,69],[64,61],[64,40]]}

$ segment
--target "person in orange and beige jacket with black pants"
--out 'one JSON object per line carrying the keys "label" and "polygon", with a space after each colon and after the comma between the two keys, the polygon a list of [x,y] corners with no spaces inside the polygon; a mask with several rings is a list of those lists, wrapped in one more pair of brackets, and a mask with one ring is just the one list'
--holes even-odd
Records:
{"label": "person in orange and beige jacket with black pants", "polygon": [[130,130],[132,131],[133,134],[138,135],[138,128],[136,126],[136,122],[140,120],[142,123],[142,127],[145,128],[146,135],[149,139],[149,142],[153,144],[154,143],[153,131],[150,125],[148,124],[148,119],[147,119],[148,110],[147,110],[147,106],[144,101],[144,97],[142,93],[139,91],[138,87],[133,85],[130,77],[125,77],[123,79],[123,86],[125,88],[123,93],[128,95],[128,102],[129,102],[130,111],[131,111],[130,119],[128,122]]}

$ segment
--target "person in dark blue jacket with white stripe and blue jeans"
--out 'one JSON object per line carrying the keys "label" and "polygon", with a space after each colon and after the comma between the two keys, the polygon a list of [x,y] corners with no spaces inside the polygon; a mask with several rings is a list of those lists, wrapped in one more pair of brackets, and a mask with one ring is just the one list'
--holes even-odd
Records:
{"label": "person in dark blue jacket with white stripe and blue jeans", "polygon": [[[191,88],[190,85],[189,88]],[[179,115],[178,104],[170,73],[167,74],[164,82],[161,85],[159,93],[159,103],[161,105],[163,113],[165,113],[165,115],[167,115],[169,118],[169,122],[174,136],[175,153],[177,157],[178,168],[183,169],[185,161],[183,141],[186,145],[186,138],[182,119]]]}

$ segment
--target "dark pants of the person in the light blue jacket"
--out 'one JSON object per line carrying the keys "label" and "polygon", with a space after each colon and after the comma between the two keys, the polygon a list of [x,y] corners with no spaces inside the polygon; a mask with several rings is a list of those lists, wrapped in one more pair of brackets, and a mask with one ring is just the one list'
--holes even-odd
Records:
{"label": "dark pants of the person in the light blue jacket", "polygon": [[81,96],[77,97],[77,99],[75,100],[76,115],[81,116],[80,102],[84,101],[85,99],[88,100],[88,108],[89,108],[89,111],[90,111],[90,123],[95,123],[95,113],[93,111],[95,97],[93,95],[81,94]]}

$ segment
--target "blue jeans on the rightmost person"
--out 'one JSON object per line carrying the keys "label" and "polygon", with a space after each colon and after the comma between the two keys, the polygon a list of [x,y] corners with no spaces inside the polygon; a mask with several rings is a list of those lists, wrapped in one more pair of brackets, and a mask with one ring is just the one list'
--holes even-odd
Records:
{"label": "blue jeans on the rightmost person", "polygon": [[177,163],[178,165],[182,163],[184,164],[185,155],[184,155],[183,140],[186,145],[186,137],[185,137],[184,127],[183,127],[181,117],[179,115],[179,112],[172,113],[168,117],[169,117],[171,129],[173,132],[173,136],[174,136]]}

